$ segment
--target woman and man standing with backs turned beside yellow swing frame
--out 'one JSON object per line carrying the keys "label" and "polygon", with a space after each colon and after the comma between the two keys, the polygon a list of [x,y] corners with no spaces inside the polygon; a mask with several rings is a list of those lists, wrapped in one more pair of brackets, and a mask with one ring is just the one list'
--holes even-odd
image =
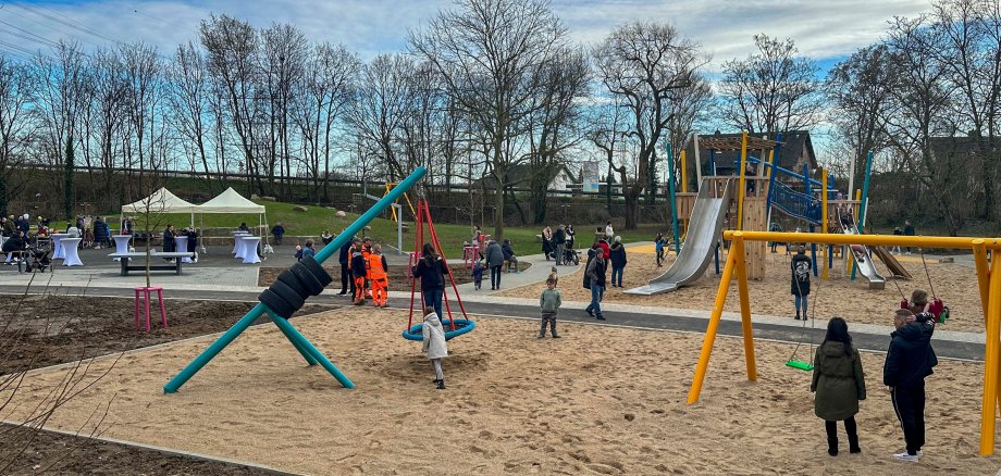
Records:
{"label": "woman and man standing with backs turned beside yellow swing frame", "polygon": [[[928,306],[928,293],[915,290],[906,309],[894,312],[895,330],[890,334],[882,368],[882,383],[890,391],[905,442],[904,451],[893,458],[912,463],[920,460],[925,444],[925,377],[938,364],[931,348],[937,318],[927,311]],[[814,355],[810,390],[816,392],[814,413],[824,419],[828,454],[837,456],[839,452],[838,422],[844,422],[849,452],[862,452],[855,415],[858,402],[866,399],[865,376],[862,358],[841,317],[833,317],[827,324],[827,335]]]}

